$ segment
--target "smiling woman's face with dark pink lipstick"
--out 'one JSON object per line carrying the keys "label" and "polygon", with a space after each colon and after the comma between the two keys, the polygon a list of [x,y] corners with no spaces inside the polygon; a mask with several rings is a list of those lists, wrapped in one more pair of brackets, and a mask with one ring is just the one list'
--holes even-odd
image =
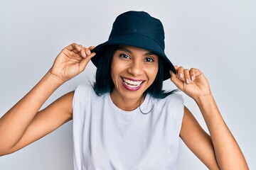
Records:
{"label": "smiling woman's face with dark pink lipstick", "polygon": [[122,45],[114,52],[111,77],[112,98],[138,100],[151,86],[159,69],[158,56],[149,50]]}

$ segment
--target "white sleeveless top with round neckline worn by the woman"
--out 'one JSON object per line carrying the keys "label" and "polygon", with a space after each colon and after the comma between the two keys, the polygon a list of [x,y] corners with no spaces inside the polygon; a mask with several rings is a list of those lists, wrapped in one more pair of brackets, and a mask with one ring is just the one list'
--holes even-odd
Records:
{"label": "white sleeveless top with round neckline worn by the woman", "polygon": [[80,84],[73,97],[75,170],[176,169],[183,97],[149,94],[140,109],[122,111],[110,94]]}

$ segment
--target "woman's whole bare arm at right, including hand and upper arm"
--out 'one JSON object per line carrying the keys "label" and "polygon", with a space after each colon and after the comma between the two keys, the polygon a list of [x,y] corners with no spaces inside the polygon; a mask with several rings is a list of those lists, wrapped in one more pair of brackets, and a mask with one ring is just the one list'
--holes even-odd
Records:
{"label": "woman's whole bare arm at right, including hand and upper arm", "polygon": [[[181,138],[186,145],[206,166],[217,162],[220,169],[248,169],[238,143],[218,110],[206,77],[198,69],[188,70],[176,67],[176,70],[177,74],[171,74],[171,81],[196,101],[210,132],[210,136],[208,136],[201,130],[190,111],[185,108]],[[194,135],[196,142],[192,140],[193,137],[189,138],[188,135]],[[208,157],[205,157],[206,153],[202,148],[206,148]]]}

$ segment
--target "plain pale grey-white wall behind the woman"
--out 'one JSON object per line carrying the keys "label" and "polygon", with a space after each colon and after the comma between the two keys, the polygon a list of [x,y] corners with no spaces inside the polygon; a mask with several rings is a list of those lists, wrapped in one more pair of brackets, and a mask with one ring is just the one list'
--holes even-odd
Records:
{"label": "plain pale grey-white wall behind the woman", "polygon": [[[0,1],[0,116],[50,69],[72,42],[105,42],[116,16],[147,11],[164,24],[166,54],[174,64],[206,74],[223,118],[250,169],[256,169],[256,3],[250,0],[9,0]],[[93,80],[95,67],[60,87],[46,104]],[[165,89],[174,89],[171,81]],[[186,106],[203,128],[196,104]],[[0,139],[1,140],[1,139]],[[20,151],[0,157],[0,169],[73,169],[72,121]],[[181,141],[178,169],[206,169]]]}

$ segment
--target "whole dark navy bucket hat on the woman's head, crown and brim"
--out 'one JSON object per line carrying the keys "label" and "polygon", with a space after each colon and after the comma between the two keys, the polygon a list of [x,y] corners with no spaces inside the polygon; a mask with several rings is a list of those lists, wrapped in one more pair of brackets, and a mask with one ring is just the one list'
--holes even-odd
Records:
{"label": "whole dark navy bucket hat on the woman's head, crown and brim", "polygon": [[164,53],[164,27],[149,13],[144,11],[127,11],[117,16],[107,42],[97,45],[92,52],[92,63],[97,64],[108,45],[130,45],[156,53],[164,59],[164,80],[170,78],[169,70],[176,73],[174,65]]}

